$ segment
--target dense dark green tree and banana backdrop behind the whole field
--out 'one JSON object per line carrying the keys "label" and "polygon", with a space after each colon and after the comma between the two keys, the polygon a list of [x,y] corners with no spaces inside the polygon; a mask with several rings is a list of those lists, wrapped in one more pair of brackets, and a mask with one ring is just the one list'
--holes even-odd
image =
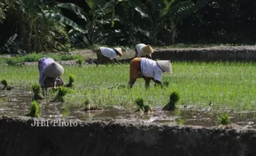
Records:
{"label": "dense dark green tree and banana backdrop behind the whole field", "polygon": [[254,0],[2,0],[0,53],[255,44]]}

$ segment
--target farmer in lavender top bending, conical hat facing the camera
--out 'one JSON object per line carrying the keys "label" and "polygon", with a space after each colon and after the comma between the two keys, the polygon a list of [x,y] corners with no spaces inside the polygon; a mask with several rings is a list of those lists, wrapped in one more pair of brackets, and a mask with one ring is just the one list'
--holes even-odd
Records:
{"label": "farmer in lavender top bending, conical hat facing the camera", "polygon": [[56,86],[64,85],[60,76],[64,73],[64,68],[54,59],[43,57],[38,61],[38,69],[40,73],[39,83],[42,88],[43,95],[49,87],[56,89]]}

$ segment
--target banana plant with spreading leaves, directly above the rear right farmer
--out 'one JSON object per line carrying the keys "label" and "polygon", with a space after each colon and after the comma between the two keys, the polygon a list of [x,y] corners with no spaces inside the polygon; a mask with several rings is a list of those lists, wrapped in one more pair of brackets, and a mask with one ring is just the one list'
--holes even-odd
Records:
{"label": "banana plant with spreading leaves, directly above the rear right farmer", "polygon": [[164,25],[168,21],[172,24],[175,16],[191,9],[194,3],[191,0],[150,0],[147,3],[130,0],[130,5],[134,6],[135,11],[139,12],[142,18],[149,21],[149,32],[147,34],[152,43],[157,44],[159,30],[164,29]]}

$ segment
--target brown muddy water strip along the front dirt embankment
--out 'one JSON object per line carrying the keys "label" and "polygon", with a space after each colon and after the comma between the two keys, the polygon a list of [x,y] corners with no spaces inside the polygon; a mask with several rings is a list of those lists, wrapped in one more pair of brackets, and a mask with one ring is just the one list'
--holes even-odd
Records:
{"label": "brown muddy water strip along the front dirt embankment", "polygon": [[[33,93],[26,89],[0,90],[0,115],[24,116],[30,111],[31,98]],[[63,103],[51,103],[47,99],[38,101],[41,109],[41,116],[48,118],[66,117],[78,118],[80,120],[112,120],[126,119],[140,122],[153,122],[158,124],[182,124],[195,126],[218,126],[216,123],[218,115],[229,112],[230,122],[240,126],[256,128],[256,112],[237,112],[235,110],[214,110],[213,108],[197,108],[187,106],[173,112],[164,112],[162,107],[156,107],[154,113],[135,113],[135,108],[124,108],[121,106],[109,106],[103,111],[84,112],[81,109],[69,110],[62,113]]]}

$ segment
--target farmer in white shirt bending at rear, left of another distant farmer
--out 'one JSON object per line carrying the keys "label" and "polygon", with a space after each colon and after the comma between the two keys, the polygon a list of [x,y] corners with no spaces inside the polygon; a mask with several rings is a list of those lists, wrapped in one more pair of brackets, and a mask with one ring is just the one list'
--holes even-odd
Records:
{"label": "farmer in white shirt bending at rear, left of another distant farmer", "polygon": [[107,48],[107,47],[100,47],[97,51],[97,60],[99,63],[107,64],[111,62],[117,62],[116,57],[122,55],[121,48]]}

